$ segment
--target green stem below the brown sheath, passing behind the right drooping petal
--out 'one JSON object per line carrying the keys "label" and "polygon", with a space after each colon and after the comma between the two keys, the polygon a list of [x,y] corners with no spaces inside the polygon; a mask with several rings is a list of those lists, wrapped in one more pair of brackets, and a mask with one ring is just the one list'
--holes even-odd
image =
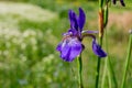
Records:
{"label": "green stem below the brown sheath, passing behind the right drooping petal", "polygon": [[[100,46],[102,46],[102,37],[100,37],[99,40],[100,40]],[[98,88],[98,85],[99,85],[100,63],[101,63],[101,57],[98,57],[98,62],[97,62],[97,75],[96,75],[96,88]]]}

